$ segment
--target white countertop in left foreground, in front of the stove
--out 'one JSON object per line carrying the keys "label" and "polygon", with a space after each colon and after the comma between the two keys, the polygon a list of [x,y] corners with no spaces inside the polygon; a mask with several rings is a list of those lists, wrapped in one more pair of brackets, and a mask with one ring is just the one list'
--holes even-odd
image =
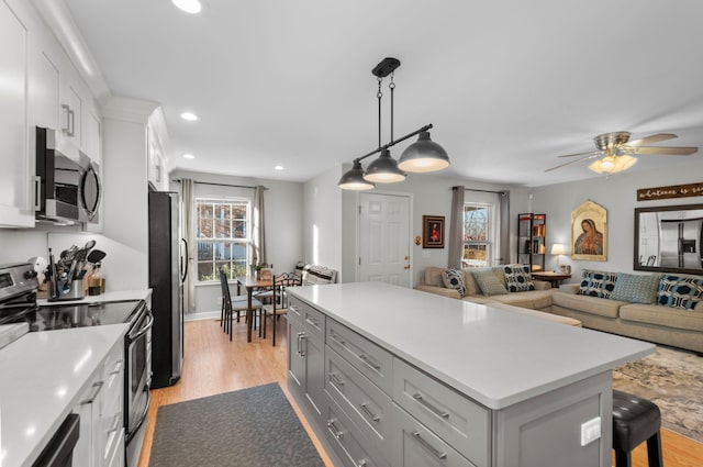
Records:
{"label": "white countertop in left foreground, in front of the stove", "polygon": [[126,324],[29,333],[0,349],[0,465],[30,466]]}

